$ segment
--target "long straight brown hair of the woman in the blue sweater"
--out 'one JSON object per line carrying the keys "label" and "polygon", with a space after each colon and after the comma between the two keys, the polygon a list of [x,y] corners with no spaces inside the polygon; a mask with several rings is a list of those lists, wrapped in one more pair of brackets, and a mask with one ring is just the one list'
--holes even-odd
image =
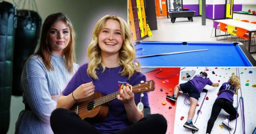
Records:
{"label": "long straight brown hair of the woman in the blue sweater", "polygon": [[54,70],[53,66],[51,65],[51,47],[48,44],[48,36],[52,25],[57,22],[62,21],[64,22],[70,30],[70,42],[68,46],[64,49],[64,56],[65,56],[65,66],[69,72],[73,72],[73,62],[75,62],[75,38],[76,34],[74,28],[72,26],[71,21],[67,17],[67,15],[63,13],[54,13],[49,15],[43,24],[41,38],[40,38],[40,45],[37,49],[37,52],[34,55],[41,56],[43,63],[48,71],[51,69]]}

